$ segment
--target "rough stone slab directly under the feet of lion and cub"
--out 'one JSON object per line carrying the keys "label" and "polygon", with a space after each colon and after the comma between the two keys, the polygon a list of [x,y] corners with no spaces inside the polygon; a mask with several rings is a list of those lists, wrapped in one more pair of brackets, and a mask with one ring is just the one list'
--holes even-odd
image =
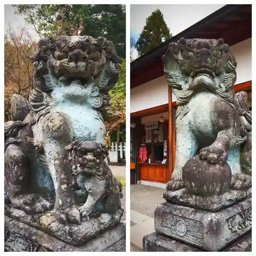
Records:
{"label": "rough stone slab directly under the feet of lion and cub", "polygon": [[123,215],[123,209],[119,209],[114,215],[101,214],[98,218],[90,217],[89,221],[86,221],[86,218],[82,218],[79,225],[60,224],[55,219],[53,211],[40,215],[28,215],[23,210],[5,206],[5,215],[50,233],[66,243],[78,246],[88,242],[97,234],[117,225]]}

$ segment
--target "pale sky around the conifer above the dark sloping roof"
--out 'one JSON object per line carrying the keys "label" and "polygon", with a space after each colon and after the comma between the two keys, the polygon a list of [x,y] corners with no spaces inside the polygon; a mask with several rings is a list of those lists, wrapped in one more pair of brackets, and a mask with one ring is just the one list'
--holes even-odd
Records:
{"label": "pale sky around the conifer above the dark sloping roof", "polygon": [[[146,18],[159,9],[173,36],[199,22],[225,5],[131,5],[131,35],[138,38],[146,24]],[[138,53],[133,51],[133,58]]]}

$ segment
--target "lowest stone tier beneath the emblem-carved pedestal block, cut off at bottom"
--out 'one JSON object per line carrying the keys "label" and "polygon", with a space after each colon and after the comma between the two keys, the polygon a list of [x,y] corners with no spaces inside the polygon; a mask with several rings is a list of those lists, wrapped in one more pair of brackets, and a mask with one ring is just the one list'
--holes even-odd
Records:
{"label": "lowest stone tier beneath the emblem-carved pedestal block, cut off at bottom", "polygon": [[[251,240],[251,231],[244,234],[241,238],[233,242],[232,244],[226,246],[221,251],[252,251],[252,240]],[[161,236],[157,232],[147,234],[147,236],[143,237],[143,251],[204,251],[203,249],[182,243],[178,240],[167,238]]]}

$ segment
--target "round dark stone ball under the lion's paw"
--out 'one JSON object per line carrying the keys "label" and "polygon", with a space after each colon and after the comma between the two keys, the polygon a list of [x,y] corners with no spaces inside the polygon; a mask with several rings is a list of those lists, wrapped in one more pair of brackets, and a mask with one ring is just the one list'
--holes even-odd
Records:
{"label": "round dark stone ball under the lion's paw", "polygon": [[229,189],[231,169],[228,163],[211,164],[199,155],[188,160],[182,170],[182,180],[190,193],[199,196],[222,195]]}

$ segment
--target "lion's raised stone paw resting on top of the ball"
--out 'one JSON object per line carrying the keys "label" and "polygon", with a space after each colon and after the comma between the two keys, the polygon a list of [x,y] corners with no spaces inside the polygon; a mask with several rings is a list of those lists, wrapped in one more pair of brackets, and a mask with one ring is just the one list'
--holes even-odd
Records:
{"label": "lion's raised stone paw resting on top of the ball", "polygon": [[211,164],[223,165],[227,161],[227,153],[221,146],[208,146],[200,151],[200,158],[207,159]]}

